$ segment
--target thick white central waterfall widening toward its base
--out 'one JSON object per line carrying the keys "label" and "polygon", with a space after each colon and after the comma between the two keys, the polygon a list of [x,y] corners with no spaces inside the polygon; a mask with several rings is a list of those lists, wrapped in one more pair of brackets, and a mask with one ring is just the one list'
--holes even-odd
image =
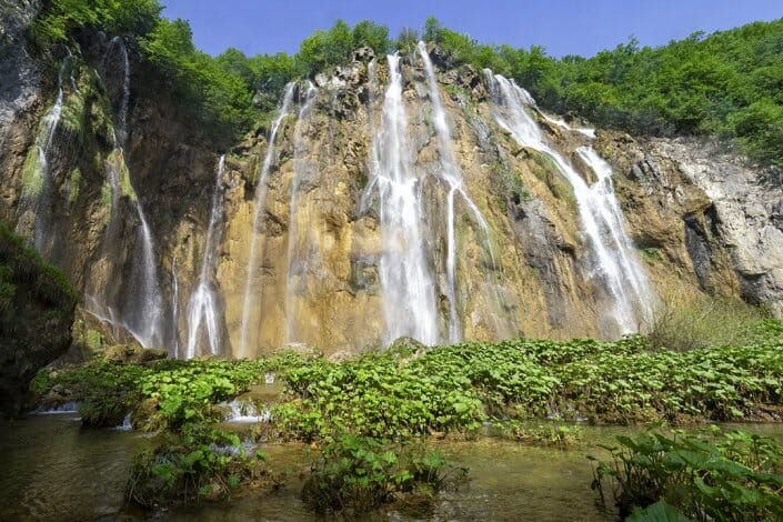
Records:
{"label": "thick white central waterfall widening toward its base", "polygon": [[422,190],[408,144],[400,58],[387,57],[391,80],[380,131],[372,143],[370,180],[362,200],[377,192],[383,252],[380,262],[385,343],[411,337],[436,344],[435,285],[424,251]]}

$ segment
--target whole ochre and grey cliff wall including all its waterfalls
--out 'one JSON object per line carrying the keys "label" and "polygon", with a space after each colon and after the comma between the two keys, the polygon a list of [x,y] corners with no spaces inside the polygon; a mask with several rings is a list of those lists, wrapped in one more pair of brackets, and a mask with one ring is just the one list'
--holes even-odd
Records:
{"label": "whole ochre and grey cliff wall including all its waterfalls", "polygon": [[2,16],[0,219],[116,342],[618,338],[672,288],[782,310],[783,191],[715,143],[566,123],[420,44],[292,83],[217,150],[121,40],[43,78]]}

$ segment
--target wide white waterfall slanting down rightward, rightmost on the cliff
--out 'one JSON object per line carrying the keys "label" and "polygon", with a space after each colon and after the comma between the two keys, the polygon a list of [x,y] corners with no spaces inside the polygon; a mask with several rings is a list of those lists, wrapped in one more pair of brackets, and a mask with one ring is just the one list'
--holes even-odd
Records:
{"label": "wide white waterfall slanting down rightward, rightmost on the cliff", "polygon": [[[535,120],[525,110],[532,107],[530,94],[500,74],[484,72],[495,98],[495,120],[513,139],[546,154],[571,183],[579,207],[582,230],[588,237],[594,275],[612,299],[611,315],[621,333],[638,331],[639,320],[649,319],[654,299],[646,275],[632,250],[620,204],[614,195],[611,168],[589,147],[576,152],[598,181],[591,187],[556,150],[551,148]],[[641,317],[640,317],[641,315]]]}

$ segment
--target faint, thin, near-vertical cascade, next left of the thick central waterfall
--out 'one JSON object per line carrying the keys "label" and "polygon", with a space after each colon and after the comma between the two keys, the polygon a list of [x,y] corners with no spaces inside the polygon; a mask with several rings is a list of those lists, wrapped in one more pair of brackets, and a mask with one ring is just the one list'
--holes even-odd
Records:
{"label": "faint, thin, near-vertical cascade, next left of the thick central waterfall", "polygon": [[315,96],[318,94],[318,89],[312,82],[308,82],[308,90],[304,93],[304,101],[302,107],[299,109],[299,117],[297,119],[297,128],[293,132],[293,180],[291,180],[291,205],[289,213],[289,230],[288,230],[288,275],[285,280],[285,342],[295,342],[294,325],[297,320],[297,303],[295,303],[295,291],[297,281],[301,280],[302,275],[305,274],[311,268],[311,261],[314,253],[312,250],[315,248],[314,242],[307,241],[305,249],[299,248],[299,199],[300,189],[302,180],[307,177],[305,170],[308,167],[305,163],[309,162],[307,158],[308,152],[304,150],[304,143],[302,140],[303,127],[308,121],[309,116],[312,113],[312,106],[315,101]]}

